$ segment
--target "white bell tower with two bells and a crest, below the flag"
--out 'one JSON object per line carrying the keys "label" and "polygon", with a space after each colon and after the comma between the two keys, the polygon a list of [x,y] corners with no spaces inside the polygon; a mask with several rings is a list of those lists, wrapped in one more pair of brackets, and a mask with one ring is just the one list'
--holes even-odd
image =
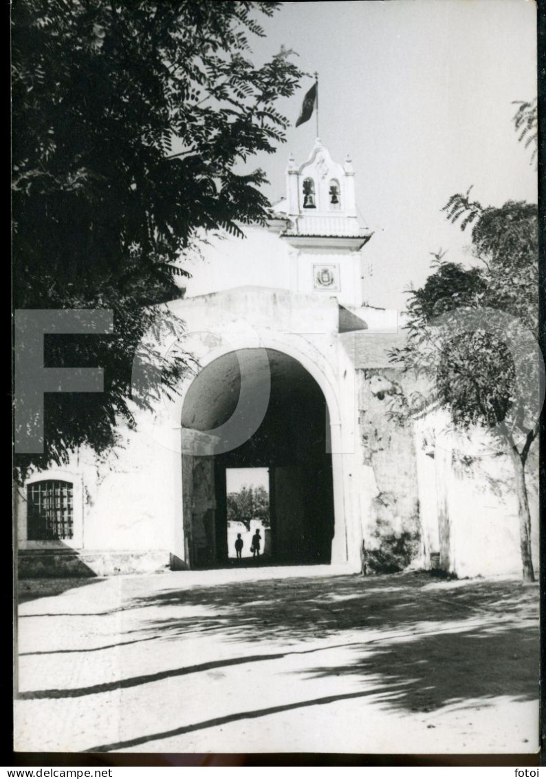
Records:
{"label": "white bell tower with two bells and a crest, below the flag", "polygon": [[334,162],[316,139],[305,163],[290,157],[286,182],[286,199],[274,211],[286,220],[280,237],[291,246],[291,288],[359,308],[360,252],[372,232],[358,222],[350,157],[343,165]]}

